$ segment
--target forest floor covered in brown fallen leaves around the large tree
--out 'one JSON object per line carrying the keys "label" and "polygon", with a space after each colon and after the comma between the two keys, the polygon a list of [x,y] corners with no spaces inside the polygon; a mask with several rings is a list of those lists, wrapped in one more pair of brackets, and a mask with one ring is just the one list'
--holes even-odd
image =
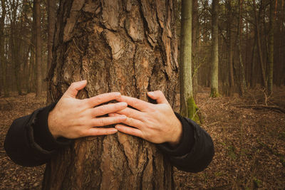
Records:
{"label": "forest floor covered in brown fallen leaves around the large tree", "polygon": [[[197,174],[175,170],[177,189],[285,189],[285,87],[264,97],[249,90],[244,97],[209,97],[209,88],[197,94],[202,127],[214,141],[215,155]],[[5,134],[11,122],[43,107],[34,94],[0,97],[0,189],[41,189],[44,167],[20,167],[6,156]]]}

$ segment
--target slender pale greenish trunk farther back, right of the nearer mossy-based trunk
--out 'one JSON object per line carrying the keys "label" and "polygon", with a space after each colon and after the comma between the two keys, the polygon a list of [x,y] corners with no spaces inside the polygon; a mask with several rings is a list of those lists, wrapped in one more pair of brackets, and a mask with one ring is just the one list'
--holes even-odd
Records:
{"label": "slender pale greenish trunk farther back, right of the nearer mossy-based trunk", "polygon": [[211,97],[219,96],[219,33],[218,33],[219,0],[212,1],[212,68]]}

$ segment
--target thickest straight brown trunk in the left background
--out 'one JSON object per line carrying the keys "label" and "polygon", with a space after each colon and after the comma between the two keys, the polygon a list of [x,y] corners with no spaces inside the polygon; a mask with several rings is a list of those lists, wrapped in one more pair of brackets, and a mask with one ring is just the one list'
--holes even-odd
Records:
{"label": "thickest straight brown trunk in the left background", "polygon": [[41,96],[42,90],[42,61],[41,61],[41,0],[33,1],[33,9],[35,9],[34,19],[35,19],[35,34],[36,34],[36,97]]}

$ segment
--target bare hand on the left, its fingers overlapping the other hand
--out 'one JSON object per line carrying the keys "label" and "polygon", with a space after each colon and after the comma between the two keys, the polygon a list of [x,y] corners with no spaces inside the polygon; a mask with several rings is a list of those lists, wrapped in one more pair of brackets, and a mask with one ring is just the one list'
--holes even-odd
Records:
{"label": "bare hand on the left, its fingers overlapping the other hand", "polygon": [[[103,128],[124,122],[125,115],[115,117],[98,117],[111,112],[118,112],[128,106],[126,102],[100,105],[110,100],[118,99],[120,93],[105,93],[84,100],[76,99],[78,90],[86,87],[87,81],[72,83],[56,107],[48,114],[48,128],[55,139],[66,137],[76,139],[86,136],[114,134],[115,128]],[[100,106],[98,106],[100,105]],[[96,107],[98,106],[98,107]]]}

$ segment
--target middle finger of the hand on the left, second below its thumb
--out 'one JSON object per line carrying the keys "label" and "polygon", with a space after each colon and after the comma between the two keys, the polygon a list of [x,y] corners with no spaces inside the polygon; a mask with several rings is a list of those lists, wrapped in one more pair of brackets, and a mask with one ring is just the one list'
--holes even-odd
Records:
{"label": "middle finger of the hand on the left, second below its thumb", "polygon": [[111,112],[118,112],[119,110],[125,109],[128,104],[126,102],[118,102],[115,104],[100,105],[98,107],[92,108],[93,117],[105,115]]}

